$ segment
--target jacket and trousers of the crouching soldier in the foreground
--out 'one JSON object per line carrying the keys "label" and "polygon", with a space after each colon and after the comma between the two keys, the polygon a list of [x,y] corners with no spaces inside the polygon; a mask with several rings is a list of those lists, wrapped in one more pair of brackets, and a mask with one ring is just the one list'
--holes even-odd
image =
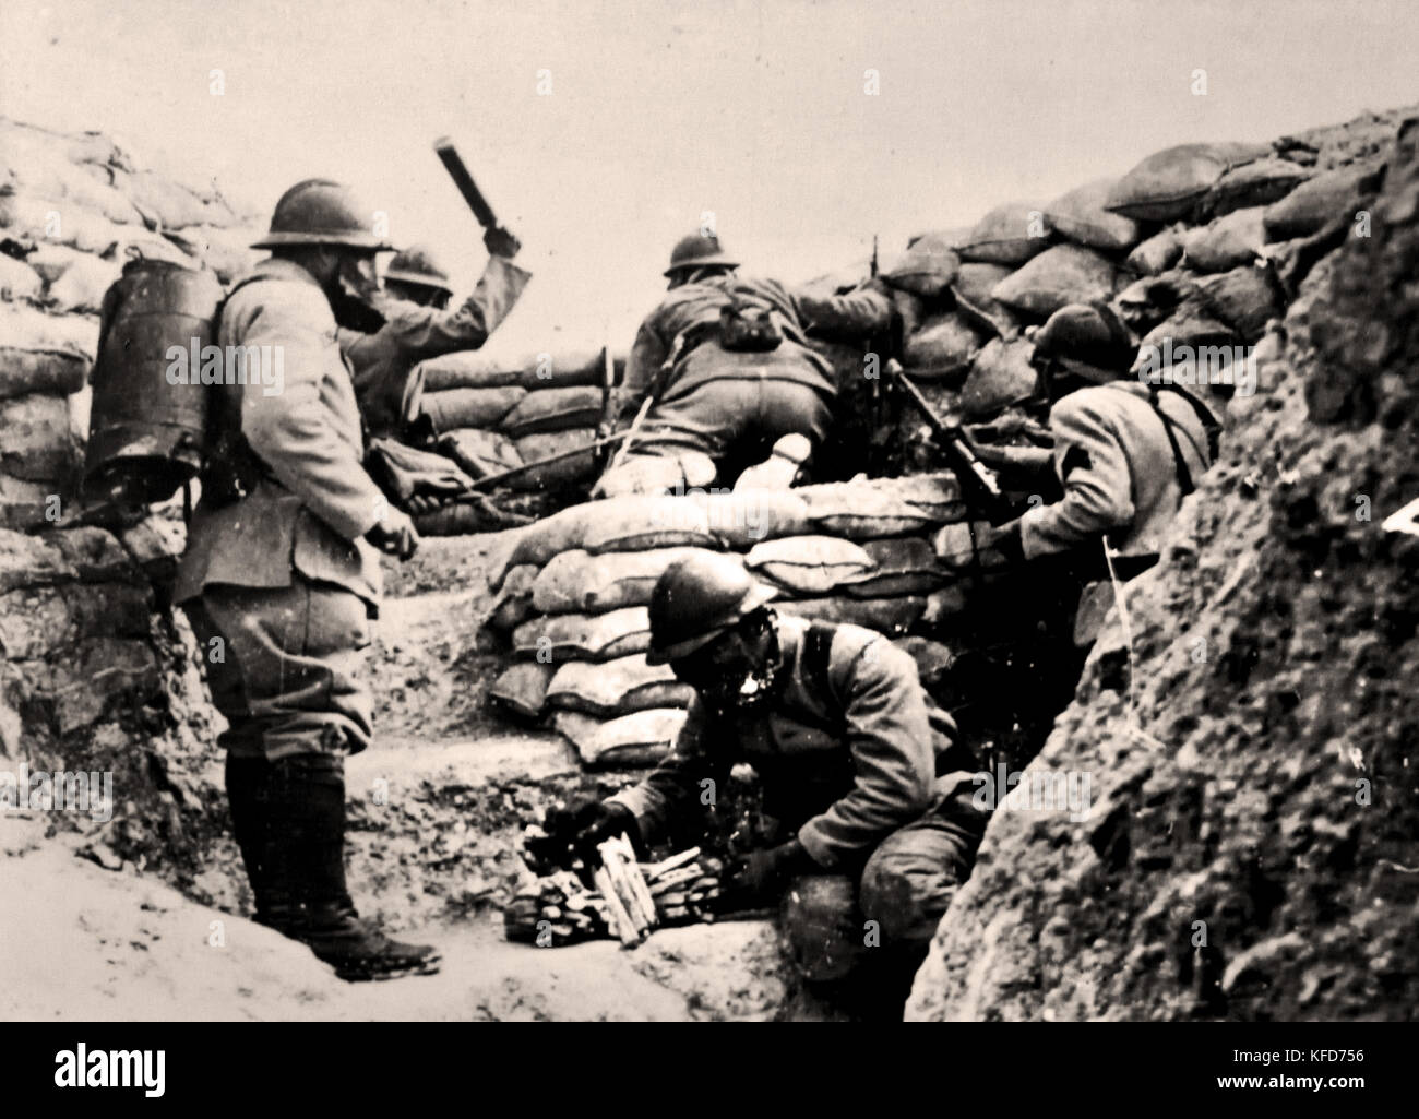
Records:
{"label": "jacket and trousers of the crouching soldier in the foreground", "polygon": [[954,726],[907,653],[853,625],[785,616],[776,629],[776,700],[718,716],[697,699],[674,753],[612,801],[648,838],[704,811],[702,781],[722,788],[735,763],[752,764],[765,811],[822,868],[788,890],[789,941],[809,978],[840,978],[864,943],[864,920],[878,922],[884,946],[925,946],[969,873],[986,817],[972,805]]}

